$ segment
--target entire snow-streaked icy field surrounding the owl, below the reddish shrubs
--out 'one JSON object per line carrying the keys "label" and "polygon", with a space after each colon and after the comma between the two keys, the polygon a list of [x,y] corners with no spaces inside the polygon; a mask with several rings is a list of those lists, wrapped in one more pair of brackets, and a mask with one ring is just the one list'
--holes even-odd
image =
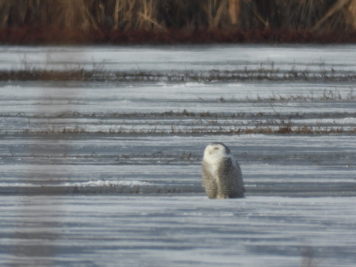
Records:
{"label": "entire snow-streaked icy field surrounding the owl, below the reddish shrubs", "polygon": [[[1,82],[0,265],[355,266],[355,81],[324,75],[355,75],[355,48],[0,47],[2,70],[314,75]],[[205,196],[212,141],[244,199]]]}

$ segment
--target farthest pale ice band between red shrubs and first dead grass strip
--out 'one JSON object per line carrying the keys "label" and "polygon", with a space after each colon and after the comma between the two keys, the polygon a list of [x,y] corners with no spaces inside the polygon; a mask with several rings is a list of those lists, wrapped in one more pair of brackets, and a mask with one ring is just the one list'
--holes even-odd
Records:
{"label": "farthest pale ice band between red shrubs and first dead grass strip", "polygon": [[[1,46],[0,69],[234,70],[270,67],[285,70],[352,70],[355,45],[177,45],[177,46]],[[262,65],[261,65],[262,64]]]}

